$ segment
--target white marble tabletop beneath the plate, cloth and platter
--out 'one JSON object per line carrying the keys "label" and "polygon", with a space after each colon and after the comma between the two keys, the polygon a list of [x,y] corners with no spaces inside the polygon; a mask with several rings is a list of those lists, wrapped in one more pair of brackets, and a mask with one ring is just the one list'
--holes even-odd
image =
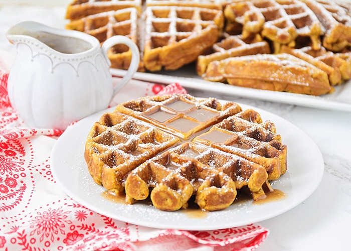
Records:
{"label": "white marble tabletop beneath the plate, cloth and platter", "polygon": [[[5,38],[5,32],[11,25],[24,20],[33,20],[63,28],[66,23],[64,13],[65,5],[16,6],[12,2],[9,4],[9,1],[0,1],[0,49],[6,50],[10,55],[15,54],[15,48]],[[304,131],[322,153],[324,176],[320,185],[300,205],[280,216],[259,222],[270,230],[270,234],[258,250],[349,249],[351,112],[257,101],[199,90],[188,91],[195,96],[234,100],[275,113]]]}

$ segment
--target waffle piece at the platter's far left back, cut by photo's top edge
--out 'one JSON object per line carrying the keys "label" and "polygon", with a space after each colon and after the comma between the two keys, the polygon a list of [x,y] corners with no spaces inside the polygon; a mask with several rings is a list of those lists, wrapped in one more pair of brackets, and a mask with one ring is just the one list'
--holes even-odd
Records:
{"label": "waffle piece at the platter's far left back, cut by photo's top edge", "polygon": [[77,20],[101,12],[134,7],[141,11],[141,0],[73,0],[66,11],[66,19]]}

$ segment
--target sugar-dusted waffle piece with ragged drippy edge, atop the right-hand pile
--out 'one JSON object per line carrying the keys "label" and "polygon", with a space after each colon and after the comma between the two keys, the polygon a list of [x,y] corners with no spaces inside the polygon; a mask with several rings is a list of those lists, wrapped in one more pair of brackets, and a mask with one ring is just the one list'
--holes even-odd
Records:
{"label": "sugar-dusted waffle piece with ragged drippy edge, atop the right-hand pile", "polygon": [[[298,0],[235,1],[224,11],[233,33],[242,26],[244,37],[260,33],[273,42],[274,52],[281,45],[294,46],[297,38],[309,38],[313,48],[320,46],[322,27],[314,13]],[[233,28],[234,27],[234,28]]]}

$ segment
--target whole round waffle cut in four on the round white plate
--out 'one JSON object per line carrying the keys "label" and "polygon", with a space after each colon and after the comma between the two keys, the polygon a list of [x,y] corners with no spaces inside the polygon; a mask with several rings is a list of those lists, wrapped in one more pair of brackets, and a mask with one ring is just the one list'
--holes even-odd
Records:
{"label": "whole round waffle cut in four on the round white plate", "polygon": [[274,123],[252,109],[188,94],[119,104],[95,122],[85,160],[97,184],[127,203],[150,198],[165,211],[229,207],[237,193],[254,200],[287,169],[286,146]]}

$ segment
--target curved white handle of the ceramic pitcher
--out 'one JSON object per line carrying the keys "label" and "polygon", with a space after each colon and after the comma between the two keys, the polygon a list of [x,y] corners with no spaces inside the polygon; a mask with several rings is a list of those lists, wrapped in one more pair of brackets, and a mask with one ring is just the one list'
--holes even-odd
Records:
{"label": "curved white handle of the ceramic pitcher", "polygon": [[108,50],[116,45],[116,44],[124,44],[126,46],[129,47],[129,49],[132,52],[132,59],[129,65],[129,68],[127,70],[127,73],[123,76],[123,78],[119,81],[119,83],[114,87],[113,89],[113,96],[120,90],[122,89],[122,87],[128,83],[128,81],[133,77],[133,74],[138,70],[139,67],[139,60],[140,60],[140,53],[139,53],[139,49],[136,46],[136,44],[130,40],[129,38],[125,37],[125,36],[113,36],[110,37],[109,39],[107,39],[102,47],[102,54],[104,55],[106,62],[108,63],[108,66],[111,66],[111,62],[108,58]]}

